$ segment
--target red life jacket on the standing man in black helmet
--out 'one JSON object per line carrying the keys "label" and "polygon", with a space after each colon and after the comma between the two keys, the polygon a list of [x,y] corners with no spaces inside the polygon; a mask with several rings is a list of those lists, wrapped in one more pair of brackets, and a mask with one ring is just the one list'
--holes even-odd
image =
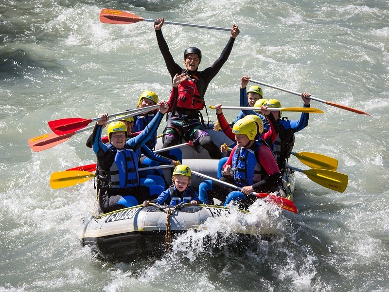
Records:
{"label": "red life jacket on the standing man in black helmet", "polygon": [[177,107],[189,110],[202,110],[204,109],[205,102],[197,90],[196,82],[198,78],[194,75],[191,77],[178,84]]}

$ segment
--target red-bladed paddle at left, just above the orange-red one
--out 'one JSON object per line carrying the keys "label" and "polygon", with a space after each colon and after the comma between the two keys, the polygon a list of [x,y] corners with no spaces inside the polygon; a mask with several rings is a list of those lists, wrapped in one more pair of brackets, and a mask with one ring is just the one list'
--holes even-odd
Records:
{"label": "red-bladed paddle at left, just above the orange-red one", "polygon": [[[109,117],[116,117],[123,114],[129,114],[129,113],[136,113],[140,114],[143,112],[147,112],[150,110],[157,109],[159,105],[154,105],[150,107],[145,107],[141,109],[135,109],[135,110],[127,110],[119,113],[114,113],[108,115]],[[123,118],[123,117],[122,117]],[[96,122],[100,120],[100,117],[93,118],[93,119],[83,119],[83,118],[65,118],[65,119],[59,119],[54,121],[49,121],[49,127],[53,130],[53,132],[57,135],[64,135],[69,134],[71,132],[74,132],[76,130],[85,128],[88,126],[91,122]]]}

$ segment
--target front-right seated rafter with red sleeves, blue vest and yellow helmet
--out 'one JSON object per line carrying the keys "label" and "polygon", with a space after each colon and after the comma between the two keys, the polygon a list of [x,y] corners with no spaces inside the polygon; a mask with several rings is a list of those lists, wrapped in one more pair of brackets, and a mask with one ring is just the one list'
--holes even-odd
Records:
{"label": "front-right seated rafter with red sleeves, blue vest and yellow helmet", "polygon": [[[231,201],[242,201],[246,205],[252,202],[248,197],[251,192],[277,192],[282,185],[282,174],[273,153],[262,139],[255,140],[255,121],[240,119],[232,131],[235,133],[237,146],[232,149],[224,164],[220,180],[240,186],[242,191],[232,191],[221,184],[204,181],[199,186],[199,197],[205,204],[214,204],[213,198],[216,198],[224,202],[224,206]],[[262,133],[263,124],[259,131]]]}

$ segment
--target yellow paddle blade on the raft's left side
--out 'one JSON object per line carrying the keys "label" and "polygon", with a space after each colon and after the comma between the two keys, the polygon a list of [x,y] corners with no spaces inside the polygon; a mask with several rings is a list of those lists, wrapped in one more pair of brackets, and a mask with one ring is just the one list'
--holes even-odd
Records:
{"label": "yellow paddle blade on the raft's left side", "polygon": [[94,178],[94,173],[83,170],[68,170],[53,172],[50,177],[50,186],[52,188],[61,188],[85,183]]}

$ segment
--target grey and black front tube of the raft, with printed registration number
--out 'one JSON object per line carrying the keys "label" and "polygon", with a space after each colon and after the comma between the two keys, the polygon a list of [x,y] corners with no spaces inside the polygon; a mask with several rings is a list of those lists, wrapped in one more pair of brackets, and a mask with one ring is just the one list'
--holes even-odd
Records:
{"label": "grey and black front tube of the raft, with printed registration number", "polygon": [[92,217],[85,227],[82,242],[108,261],[131,262],[141,257],[159,256],[168,248],[168,238],[189,229],[198,230],[210,217],[229,214],[229,209],[206,205],[135,206]]}

